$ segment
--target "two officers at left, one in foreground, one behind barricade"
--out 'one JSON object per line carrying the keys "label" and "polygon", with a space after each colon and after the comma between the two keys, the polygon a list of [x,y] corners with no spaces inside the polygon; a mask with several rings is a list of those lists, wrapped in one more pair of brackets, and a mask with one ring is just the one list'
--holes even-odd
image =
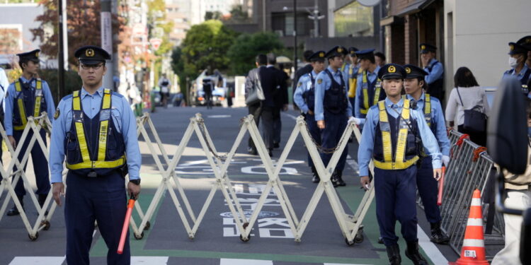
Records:
{"label": "two officers at left, one in foreground, one behind barricade", "polygon": [[[129,102],[122,95],[103,88],[103,75],[107,70],[105,60],[110,59],[110,54],[96,46],[76,50],[83,87],[64,97],[56,110],[50,87],[38,78],[39,52],[36,49],[17,54],[23,73],[8,86],[4,100],[8,139],[13,148],[23,145],[18,155],[18,160],[21,160],[28,152],[28,144],[33,137],[30,130],[21,143],[28,117],[40,117],[43,112],[47,113],[53,125],[50,161],[47,163],[40,146],[35,145],[30,150],[38,187],[35,193],[41,207],[50,192],[50,182],[59,206],[62,205],[61,197],[65,196],[67,263],[89,264],[89,250],[97,221],[109,249],[107,264],[130,264],[129,241],[125,241],[122,254],[117,254],[116,250],[127,205],[124,177],[129,174],[127,193],[136,199],[140,192],[141,155],[136,119]],[[45,129],[41,129],[39,134],[45,139]],[[67,194],[62,177],[65,157],[69,170]],[[15,192],[23,206],[25,189],[22,180],[17,182]],[[16,216],[22,210],[13,206],[7,215]]]}

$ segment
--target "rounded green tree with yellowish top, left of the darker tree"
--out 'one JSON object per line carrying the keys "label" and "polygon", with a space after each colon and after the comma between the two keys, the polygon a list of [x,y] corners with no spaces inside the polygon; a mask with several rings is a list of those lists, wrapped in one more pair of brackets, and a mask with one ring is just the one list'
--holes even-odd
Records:
{"label": "rounded green tree with yellowish top, left of the darker tree", "polygon": [[236,33],[219,20],[193,25],[181,46],[184,76],[195,79],[208,66],[219,71],[228,69],[227,50],[235,37]]}

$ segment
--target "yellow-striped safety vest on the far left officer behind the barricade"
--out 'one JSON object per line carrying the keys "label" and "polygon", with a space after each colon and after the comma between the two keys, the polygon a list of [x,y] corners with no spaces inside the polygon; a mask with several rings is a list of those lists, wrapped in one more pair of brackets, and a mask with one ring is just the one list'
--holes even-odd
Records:
{"label": "yellow-striped safety vest on the far left officer behind the barricade", "polygon": [[[28,82],[28,86],[31,86],[31,81]],[[42,80],[38,78],[35,81],[35,101],[33,101],[33,95],[29,95],[29,93],[33,93],[31,90],[22,90],[20,79],[15,82],[15,90],[17,108],[13,111],[13,129],[23,131],[25,125],[28,124],[28,117],[39,117],[42,107],[44,109],[46,107],[42,96]],[[26,114],[26,110],[28,110],[29,116]]]}

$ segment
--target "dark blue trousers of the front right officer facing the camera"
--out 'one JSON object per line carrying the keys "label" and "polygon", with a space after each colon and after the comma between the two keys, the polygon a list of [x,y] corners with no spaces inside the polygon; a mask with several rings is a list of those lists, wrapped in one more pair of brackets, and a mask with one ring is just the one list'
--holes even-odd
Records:
{"label": "dark blue trousers of the front right officer facing the camera", "polygon": [[401,223],[406,242],[417,240],[416,174],[416,165],[405,170],[375,167],[376,217],[387,247],[398,242],[394,233],[396,220]]}

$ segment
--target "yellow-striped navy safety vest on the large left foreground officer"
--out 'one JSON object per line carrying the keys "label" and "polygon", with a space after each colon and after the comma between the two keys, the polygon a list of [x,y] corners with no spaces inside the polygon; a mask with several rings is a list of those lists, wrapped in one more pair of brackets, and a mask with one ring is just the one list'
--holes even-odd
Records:
{"label": "yellow-striped navy safety vest on the large left foreground officer", "polygon": [[125,165],[125,143],[112,119],[111,98],[111,90],[104,89],[100,111],[90,119],[83,112],[80,91],[74,91],[72,126],[65,146],[69,170],[80,175],[91,171],[105,175]]}

